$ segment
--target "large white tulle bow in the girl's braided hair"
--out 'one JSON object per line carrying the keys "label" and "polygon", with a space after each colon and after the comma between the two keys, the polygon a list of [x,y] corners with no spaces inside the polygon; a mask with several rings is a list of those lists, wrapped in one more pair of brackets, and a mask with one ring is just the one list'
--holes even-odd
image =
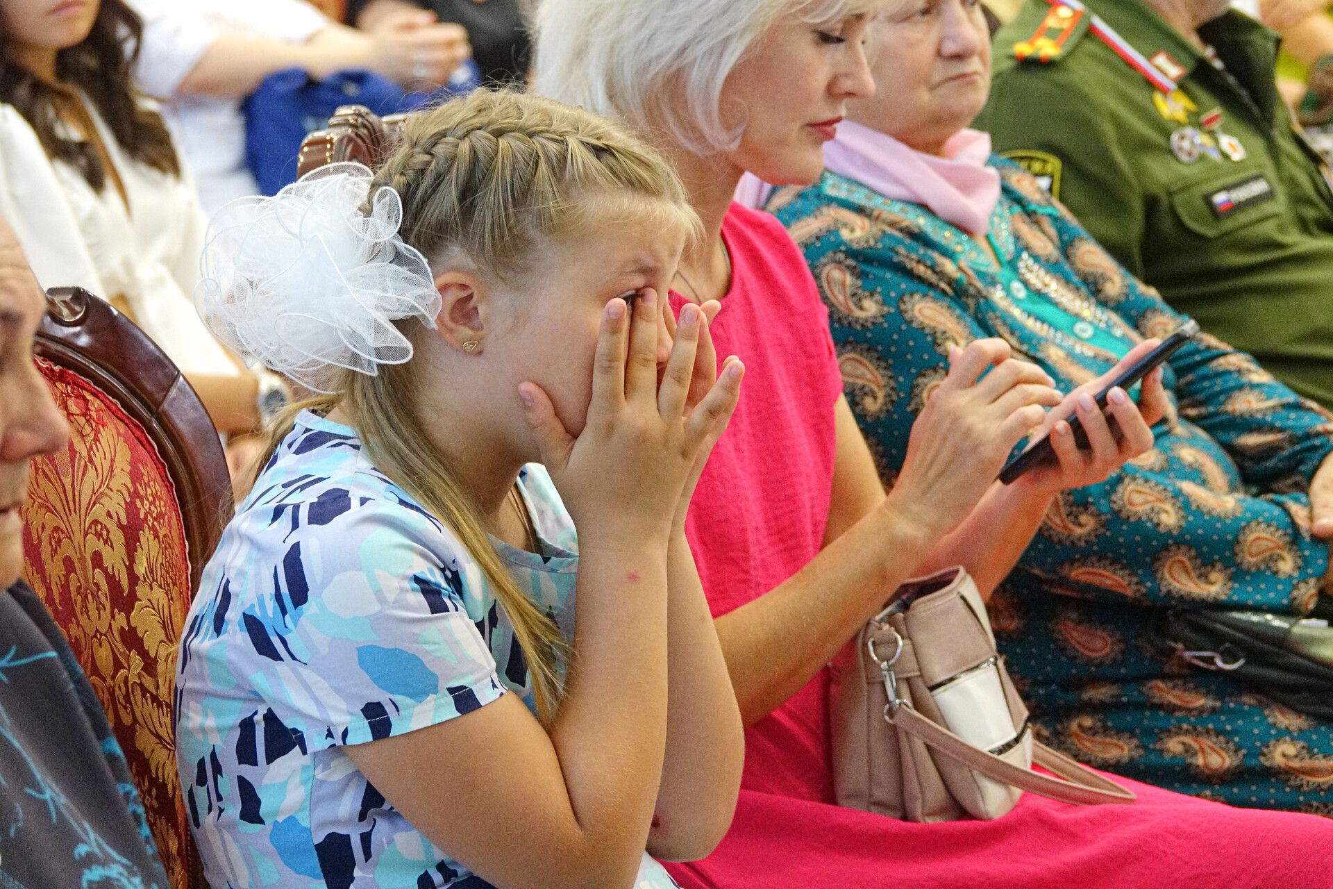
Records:
{"label": "large white tulle bow in the girl's braided hair", "polygon": [[361,164],[329,164],[273,197],[217,211],[195,303],[247,364],[331,393],[339,368],[375,376],[412,357],[395,321],[435,327],[440,295],[425,257],[399,237],[399,193],[380,188],[361,212],[372,176]]}

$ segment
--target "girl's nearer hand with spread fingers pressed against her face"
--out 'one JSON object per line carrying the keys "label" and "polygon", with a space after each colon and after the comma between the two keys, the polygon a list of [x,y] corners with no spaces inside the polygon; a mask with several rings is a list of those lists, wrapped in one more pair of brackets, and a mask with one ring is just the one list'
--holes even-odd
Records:
{"label": "girl's nearer hand with spread fingers pressed against her face", "polygon": [[736,408],[744,368],[730,357],[717,377],[701,307],[681,311],[659,375],[659,300],[647,288],[632,311],[620,297],[607,304],[588,420],[577,439],[540,387],[519,387],[541,461],[580,536],[665,542],[684,521],[698,472]]}

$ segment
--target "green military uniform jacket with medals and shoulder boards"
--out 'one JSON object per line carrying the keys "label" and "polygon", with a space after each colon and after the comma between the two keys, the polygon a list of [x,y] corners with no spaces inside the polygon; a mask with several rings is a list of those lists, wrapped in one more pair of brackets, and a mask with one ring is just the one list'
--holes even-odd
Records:
{"label": "green military uniform jacket with medals and shoulder boards", "polygon": [[1333,407],[1333,175],[1226,0],[1028,0],[976,127],[1130,272]]}

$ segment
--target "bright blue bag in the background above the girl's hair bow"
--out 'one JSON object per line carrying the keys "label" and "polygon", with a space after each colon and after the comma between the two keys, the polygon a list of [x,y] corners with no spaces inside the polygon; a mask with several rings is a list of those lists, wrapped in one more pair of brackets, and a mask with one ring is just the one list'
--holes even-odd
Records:
{"label": "bright blue bag in the background above the girl's hair bow", "polygon": [[343,71],[312,80],[300,68],[269,75],[241,105],[245,113],[245,163],[264,195],[296,181],[301,140],[328,125],[339,105],[365,105],[381,117],[472,91],[481,72],[468,59],[435,93],[407,92],[369,71]]}

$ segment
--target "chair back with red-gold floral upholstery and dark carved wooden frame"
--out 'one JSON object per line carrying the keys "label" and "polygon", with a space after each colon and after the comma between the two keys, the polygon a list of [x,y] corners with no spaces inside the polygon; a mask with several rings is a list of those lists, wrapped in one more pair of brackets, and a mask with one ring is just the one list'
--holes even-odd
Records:
{"label": "chair back with red-gold floral upholstery and dark carved wooden frame", "polygon": [[[204,889],[176,776],[176,646],[227,520],[227,462],[197,396],[133,324],[52,291],[37,367],[69,444],[33,460],[24,577],[125,753],[173,889]],[[195,557],[197,554],[197,557]]]}

